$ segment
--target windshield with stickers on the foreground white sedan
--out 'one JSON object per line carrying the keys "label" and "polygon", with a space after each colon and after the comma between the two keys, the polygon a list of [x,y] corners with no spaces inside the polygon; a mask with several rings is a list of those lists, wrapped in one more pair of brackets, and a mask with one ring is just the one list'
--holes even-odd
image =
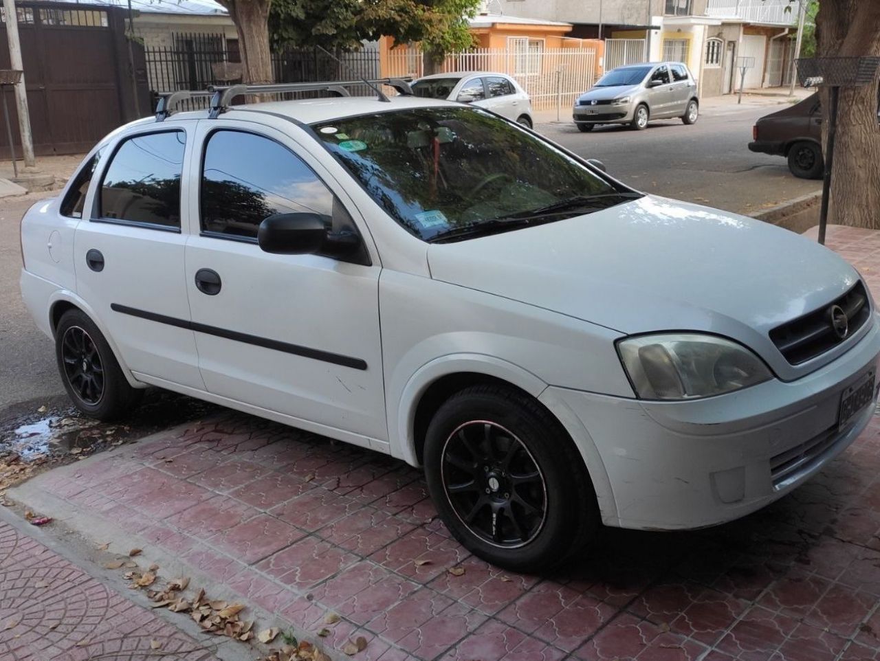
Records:
{"label": "windshield with stickers on the foreground white sedan", "polygon": [[417,108],[312,128],[392,218],[426,241],[553,222],[640,196],[480,108]]}

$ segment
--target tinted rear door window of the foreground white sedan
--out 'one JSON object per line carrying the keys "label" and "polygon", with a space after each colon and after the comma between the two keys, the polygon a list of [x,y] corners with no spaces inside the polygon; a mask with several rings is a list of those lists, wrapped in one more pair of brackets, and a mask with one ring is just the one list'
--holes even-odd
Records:
{"label": "tinted rear door window of the foreground white sedan", "polygon": [[180,228],[183,131],[136,135],[121,143],[101,185],[103,218]]}

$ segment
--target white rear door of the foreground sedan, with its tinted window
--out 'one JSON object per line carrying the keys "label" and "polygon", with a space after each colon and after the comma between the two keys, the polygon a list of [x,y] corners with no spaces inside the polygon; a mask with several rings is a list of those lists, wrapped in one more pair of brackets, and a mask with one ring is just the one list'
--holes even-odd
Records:
{"label": "white rear door of the foreground sedan, with its tinted window", "polygon": [[129,369],[203,389],[184,275],[187,190],[195,121],[150,124],[102,158],[74,236],[77,294]]}

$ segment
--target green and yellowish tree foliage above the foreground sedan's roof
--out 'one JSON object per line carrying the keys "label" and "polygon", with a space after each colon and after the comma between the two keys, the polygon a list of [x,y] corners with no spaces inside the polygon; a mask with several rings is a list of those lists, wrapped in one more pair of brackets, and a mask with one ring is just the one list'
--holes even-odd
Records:
{"label": "green and yellowish tree foliage above the foreground sedan's roof", "polygon": [[356,49],[382,36],[438,53],[473,45],[467,18],[479,0],[274,0],[272,46]]}

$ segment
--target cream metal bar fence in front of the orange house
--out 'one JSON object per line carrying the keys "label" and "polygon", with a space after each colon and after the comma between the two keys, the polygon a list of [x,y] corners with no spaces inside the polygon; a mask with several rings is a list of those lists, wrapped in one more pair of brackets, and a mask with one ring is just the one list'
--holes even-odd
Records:
{"label": "cream metal bar fence in front of the orange house", "polygon": [[[535,110],[572,105],[596,80],[594,48],[474,48],[448,54],[443,72],[496,71],[513,77],[532,99]],[[422,53],[414,47],[393,48],[383,76],[422,76]]]}

